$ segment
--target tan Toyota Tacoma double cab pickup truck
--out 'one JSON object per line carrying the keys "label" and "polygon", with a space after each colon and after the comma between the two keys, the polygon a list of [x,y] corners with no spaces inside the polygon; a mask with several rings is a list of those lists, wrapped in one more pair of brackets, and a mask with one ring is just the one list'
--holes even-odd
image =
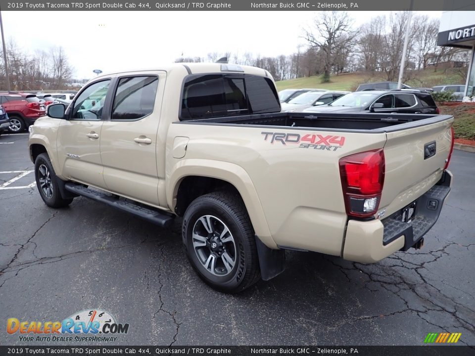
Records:
{"label": "tan Toyota Tacoma double cab pickup truck", "polygon": [[453,117],[282,113],[253,67],[102,75],[47,114],[29,138],[47,206],[183,217],[191,266],[227,292],[281,273],[286,249],[374,263],[420,248],[452,181]]}

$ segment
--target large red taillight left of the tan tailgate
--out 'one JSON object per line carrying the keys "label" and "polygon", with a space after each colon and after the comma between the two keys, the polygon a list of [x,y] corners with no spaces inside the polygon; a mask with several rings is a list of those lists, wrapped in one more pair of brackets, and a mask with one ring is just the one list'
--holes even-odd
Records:
{"label": "large red taillight left of the tan tailgate", "polygon": [[346,214],[360,218],[374,215],[380,205],[384,184],[383,150],[343,157],[339,166]]}

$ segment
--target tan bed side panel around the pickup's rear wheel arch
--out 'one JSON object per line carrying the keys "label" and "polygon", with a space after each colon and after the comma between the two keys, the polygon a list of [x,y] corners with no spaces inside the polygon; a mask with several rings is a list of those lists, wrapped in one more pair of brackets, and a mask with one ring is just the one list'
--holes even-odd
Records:
{"label": "tan bed side panel around the pickup's rear wheel arch", "polygon": [[[297,141],[299,135],[300,140],[293,143],[273,141],[272,135],[265,134],[269,132],[289,134],[293,141]],[[344,143],[333,143],[331,149],[303,148],[301,143],[306,141],[301,138],[306,134],[320,135],[326,142],[333,136],[344,137]],[[171,155],[176,136],[190,138],[186,155],[181,159]],[[336,140],[342,142],[341,138]],[[175,123],[170,126],[167,141],[167,201],[173,209],[180,179],[187,174],[187,167],[190,172],[196,172],[191,166],[199,165],[201,160],[200,175],[227,181],[233,174],[249,177],[241,186],[235,186],[243,197],[256,234],[267,229],[278,246],[339,256],[346,213],[338,160],[353,153],[381,148],[385,140],[384,133]],[[322,144],[318,148],[320,146]],[[206,169],[210,162],[214,162],[216,169]],[[219,167],[230,174],[216,176]],[[175,174],[177,170],[180,175]],[[250,198],[250,191],[256,192],[265,219],[253,216],[256,202]],[[267,226],[261,226],[263,223]]]}

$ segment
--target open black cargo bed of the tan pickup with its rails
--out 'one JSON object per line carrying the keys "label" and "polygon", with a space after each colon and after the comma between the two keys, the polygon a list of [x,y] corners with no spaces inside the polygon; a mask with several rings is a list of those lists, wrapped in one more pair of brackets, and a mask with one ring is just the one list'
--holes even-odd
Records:
{"label": "open black cargo bed of the tan pickup with its rails", "polygon": [[318,128],[320,131],[384,133],[415,128],[444,121],[449,115],[377,114],[377,113],[273,113],[227,116],[181,121],[182,124],[269,127],[292,129]]}

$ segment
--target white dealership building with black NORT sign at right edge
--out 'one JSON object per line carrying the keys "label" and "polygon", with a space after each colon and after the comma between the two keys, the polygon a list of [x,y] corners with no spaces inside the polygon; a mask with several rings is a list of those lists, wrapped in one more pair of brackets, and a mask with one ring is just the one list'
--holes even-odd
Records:
{"label": "white dealership building with black NORT sign at right edge", "polygon": [[464,101],[475,100],[475,11],[443,11],[437,45],[471,50]]}

